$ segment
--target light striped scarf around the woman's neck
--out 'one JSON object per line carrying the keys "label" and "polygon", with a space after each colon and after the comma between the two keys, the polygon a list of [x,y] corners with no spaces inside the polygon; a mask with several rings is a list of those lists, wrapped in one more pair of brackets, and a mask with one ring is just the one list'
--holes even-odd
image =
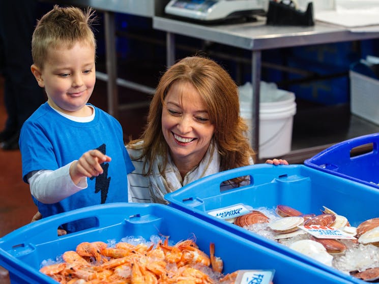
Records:
{"label": "light striped scarf around the woman's neck", "polygon": [[153,172],[149,175],[149,193],[151,202],[167,204],[168,202],[164,199],[165,194],[179,190],[182,186],[199,178],[218,173],[220,171],[220,154],[217,145],[212,142],[200,164],[189,171],[184,180],[182,180],[179,170],[172,162],[169,154],[163,175],[160,174],[162,164],[162,157],[157,157],[152,167]]}

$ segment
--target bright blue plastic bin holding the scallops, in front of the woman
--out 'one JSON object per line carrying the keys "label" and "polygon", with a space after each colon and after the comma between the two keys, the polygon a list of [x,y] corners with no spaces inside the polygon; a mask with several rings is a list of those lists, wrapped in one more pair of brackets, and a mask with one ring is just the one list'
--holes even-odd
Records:
{"label": "bright blue plastic bin holding the scallops, in front of the woman", "polygon": [[[226,180],[250,176],[251,184],[220,191]],[[264,245],[284,255],[322,268],[356,283],[364,281],[308,258],[274,240],[258,235],[208,214],[208,211],[235,204],[253,208],[275,208],[284,204],[304,213],[317,213],[326,206],[345,216],[352,226],[379,217],[379,191],[373,187],[331,175],[305,165],[273,166],[257,164],[220,172],[187,184],[169,193],[165,199],[170,206],[206,220],[210,224]],[[320,212],[321,213],[321,212]]]}

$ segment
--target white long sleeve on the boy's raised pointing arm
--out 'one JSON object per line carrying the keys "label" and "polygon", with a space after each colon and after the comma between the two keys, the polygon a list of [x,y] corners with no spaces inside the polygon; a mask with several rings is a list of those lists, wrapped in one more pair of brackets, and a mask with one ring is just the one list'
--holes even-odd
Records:
{"label": "white long sleeve on the boy's raised pointing arm", "polygon": [[77,184],[72,181],[70,176],[72,163],[55,171],[41,170],[35,172],[28,178],[32,195],[42,203],[51,204],[86,188],[88,186],[86,177],[82,177]]}

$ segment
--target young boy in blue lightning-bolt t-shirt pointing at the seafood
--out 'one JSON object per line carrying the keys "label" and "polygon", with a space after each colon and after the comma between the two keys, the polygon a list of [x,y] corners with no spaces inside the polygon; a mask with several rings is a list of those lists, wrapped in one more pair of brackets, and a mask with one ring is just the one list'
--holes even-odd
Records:
{"label": "young boy in blue lightning-bolt t-shirt pointing at the seafood", "polygon": [[[122,127],[88,103],[96,81],[93,14],[54,6],[33,34],[31,70],[48,100],[23,124],[19,145],[22,177],[42,217],[128,201],[127,174],[134,167]],[[91,218],[62,229],[95,225]]]}

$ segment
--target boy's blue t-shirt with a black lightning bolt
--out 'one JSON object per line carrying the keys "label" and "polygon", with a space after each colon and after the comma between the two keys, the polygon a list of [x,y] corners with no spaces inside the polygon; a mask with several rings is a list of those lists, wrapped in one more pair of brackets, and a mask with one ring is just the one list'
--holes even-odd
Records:
{"label": "boy's blue t-shirt with a black lightning bolt", "polygon": [[[90,205],[128,202],[127,174],[134,167],[125,149],[121,124],[103,110],[94,109],[92,121],[76,122],[44,103],[22,125],[19,144],[25,182],[28,173],[59,169],[91,149],[98,149],[112,159],[101,164],[103,174],[88,178],[84,190],[54,204],[35,200],[43,217]],[[93,225],[96,220],[81,220],[63,228],[74,232]]]}

